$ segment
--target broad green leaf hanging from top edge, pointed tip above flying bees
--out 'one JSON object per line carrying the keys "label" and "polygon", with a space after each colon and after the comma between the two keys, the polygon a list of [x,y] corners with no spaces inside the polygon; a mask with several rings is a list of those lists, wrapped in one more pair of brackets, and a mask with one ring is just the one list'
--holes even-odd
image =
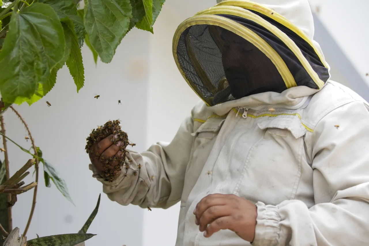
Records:
{"label": "broad green leaf hanging from top edge, pointed tip above flying bees", "polygon": [[113,59],[131,18],[130,0],[85,0],[85,28],[102,62]]}

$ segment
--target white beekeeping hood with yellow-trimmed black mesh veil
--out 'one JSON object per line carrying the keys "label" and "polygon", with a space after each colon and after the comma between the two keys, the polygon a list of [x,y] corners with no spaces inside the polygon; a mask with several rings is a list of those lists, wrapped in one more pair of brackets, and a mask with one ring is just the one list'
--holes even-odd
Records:
{"label": "white beekeeping hood with yellow-trimmed black mesh veil", "polygon": [[313,36],[307,0],[217,0],[179,25],[173,56],[212,108],[296,105],[330,78]]}

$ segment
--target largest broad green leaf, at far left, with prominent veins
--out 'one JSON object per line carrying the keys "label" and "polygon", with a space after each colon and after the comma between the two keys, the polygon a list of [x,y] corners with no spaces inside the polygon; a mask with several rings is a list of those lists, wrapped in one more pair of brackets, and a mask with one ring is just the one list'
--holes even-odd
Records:
{"label": "largest broad green leaf, at far left, with prominent veins", "polygon": [[0,91],[3,101],[31,98],[63,58],[65,38],[55,11],[34,3],[13,13],[0,53]]}

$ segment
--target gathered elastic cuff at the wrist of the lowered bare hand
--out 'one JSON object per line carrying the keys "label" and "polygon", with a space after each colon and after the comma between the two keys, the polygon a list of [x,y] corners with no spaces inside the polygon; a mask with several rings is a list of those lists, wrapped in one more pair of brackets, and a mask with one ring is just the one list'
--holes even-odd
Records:
{"label": "gathered elastic cuff at the wrist of the lowered bare hand", "polygon": [[265,205],[257,202],[258,216],[256,217],[255,238],[253,246],[276,246],[278,245],[280,231],[280,216],[277,206]]}

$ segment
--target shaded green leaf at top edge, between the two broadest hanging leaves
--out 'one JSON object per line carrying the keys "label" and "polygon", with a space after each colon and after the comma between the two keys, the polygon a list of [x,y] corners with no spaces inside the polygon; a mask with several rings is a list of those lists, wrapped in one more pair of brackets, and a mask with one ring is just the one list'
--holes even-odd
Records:
{"label": "shaded green leaf at top edge, between the two broadest hanging leaves", "polygon": [[54,8],[61,21],[70,19],[73,22],[76,35],[78,37],[79,48],[83,45],[86,30],[83,21],[77,13],[77,5],[74,0],[40,0],[41,3],[49,4]]}

